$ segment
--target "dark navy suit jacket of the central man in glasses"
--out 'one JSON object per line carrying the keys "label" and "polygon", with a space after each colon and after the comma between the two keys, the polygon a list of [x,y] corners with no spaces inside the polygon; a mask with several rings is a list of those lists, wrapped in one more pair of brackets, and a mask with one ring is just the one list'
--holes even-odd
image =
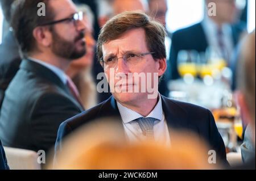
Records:
{"label": "dark navy suit jacket of the central man in glasses", "polygon": [[[224,142],[218,133],[212,113],[202,107],[189,103],[178,102],[162,96],[162,106],[168,127],[175,129],[187,129],[196,133],[216,150],[217,157],[226,162],[226,151]],[[85,123],[101,117],[117,117],[117,124],[122,124],[121,116],[117,108],[117,103],[113,96],[105,102],[98,104],[79,115],[61,123],[55,144],[55,161],[57,161],[57,151],[61,150],[63,138],[75,131]],[[122,126],[122,125],[121,125]]]}

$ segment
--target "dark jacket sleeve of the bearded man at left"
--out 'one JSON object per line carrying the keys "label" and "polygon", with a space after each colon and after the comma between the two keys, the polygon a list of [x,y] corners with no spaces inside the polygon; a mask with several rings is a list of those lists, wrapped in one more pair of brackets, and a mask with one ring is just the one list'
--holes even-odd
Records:
{"label": "dark jacket sleeve of the bearded man at left", "polygon": [[55,144],[59,125],[81,111],[67,97],[57,93],[47,93],[35,103],[31,115],[32,136],[36,145],[48,151]]}

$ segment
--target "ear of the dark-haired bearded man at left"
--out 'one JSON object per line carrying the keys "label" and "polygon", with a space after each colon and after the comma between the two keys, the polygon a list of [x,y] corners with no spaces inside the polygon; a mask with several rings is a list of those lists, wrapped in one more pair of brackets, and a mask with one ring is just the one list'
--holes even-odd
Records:
{"label": "ear of the dark-haired bearded man at left", "polygon": [[33,36],[39,45],[49,47],[52,42],[51,32],[45,27],[36,27],[33,30]]}

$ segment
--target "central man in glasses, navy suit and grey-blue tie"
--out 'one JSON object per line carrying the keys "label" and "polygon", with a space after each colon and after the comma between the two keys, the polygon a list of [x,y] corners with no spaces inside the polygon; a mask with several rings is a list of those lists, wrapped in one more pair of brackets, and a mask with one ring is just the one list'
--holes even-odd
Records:
{"label": "central man in glasses, navy suit and grey-blue tie", "polygon": [[60,125],[55,161],[65,136],[85,123],[108,116],[117,117],[129,141],[153,138],[170,144],[168,127],[188,129],[226,161],[224,142],[212,113],[158,92],[159,79],[167,67],[165,36],[160,23],[140,12],[123,12],[105,24],[98,38],[97,54],[113,96]]}

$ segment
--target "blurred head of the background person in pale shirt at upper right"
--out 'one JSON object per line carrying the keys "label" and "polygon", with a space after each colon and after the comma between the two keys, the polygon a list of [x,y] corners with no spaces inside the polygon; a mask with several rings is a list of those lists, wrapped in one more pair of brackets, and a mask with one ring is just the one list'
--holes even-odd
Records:
{"label": "blurred head of the background person in pale shirt at upper right", "polygon": [[[210,6],[213,5],[213,3],[216,6]],[[210,11],[216,10],[216,15],[209,15],[208,11],[207,14],[209,18],[218,24],[218,26],[225,23],[232,24],[237,21],[238,9],[236,6],[236,0],[205,0],[205,5]],[[216,7],[216,9],[213,7]]]}

